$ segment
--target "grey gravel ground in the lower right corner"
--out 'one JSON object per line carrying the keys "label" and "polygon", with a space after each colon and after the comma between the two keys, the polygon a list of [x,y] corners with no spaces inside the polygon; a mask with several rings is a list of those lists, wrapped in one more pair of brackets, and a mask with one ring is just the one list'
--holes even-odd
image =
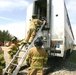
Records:
{"label": "grey gravel ground in the lower right corner", "polygon": [[76,64],[67,58],[49,75],[76,75]]}

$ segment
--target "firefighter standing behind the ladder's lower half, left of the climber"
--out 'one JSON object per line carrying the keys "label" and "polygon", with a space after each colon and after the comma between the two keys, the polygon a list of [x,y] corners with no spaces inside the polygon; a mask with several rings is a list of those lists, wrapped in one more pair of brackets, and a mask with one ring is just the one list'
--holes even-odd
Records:
{"label": "firefighter standing behind the ladder's lower half, left of the climber", "polygon": [[[16,54],[16,52],[18,51],[19,46],[20,46],[20,44],[18,43],[17,38],[14,36],[14,37],[12,38],[12,44],[8,47],[8,54],[9,54],[9,57],[10,57],[10,58],[9,58],[9,59],[10,59],[9,62],[11,62],[11,60],[13,59],[13,56],[14,56],[14,55]],[[17,63],[18,63],[18,59],[16,59],[16,60],[14,61],[14,63],[17,64]],[[12,72],[14,68],[15,68],[14,66],[11,66],[8,71],[9,71],[9,72]]]}

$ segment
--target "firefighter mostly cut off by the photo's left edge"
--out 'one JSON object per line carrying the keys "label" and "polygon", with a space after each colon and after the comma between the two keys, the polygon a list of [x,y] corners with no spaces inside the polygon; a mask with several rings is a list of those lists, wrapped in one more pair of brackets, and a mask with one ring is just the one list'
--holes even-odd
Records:
{"label": "firefighter mostly cut off by the photo's left edge", "polygon": [[5,59],[4,59],[4,51],[0,47],[0,75],[3,73],[3,69],[5,68]]}

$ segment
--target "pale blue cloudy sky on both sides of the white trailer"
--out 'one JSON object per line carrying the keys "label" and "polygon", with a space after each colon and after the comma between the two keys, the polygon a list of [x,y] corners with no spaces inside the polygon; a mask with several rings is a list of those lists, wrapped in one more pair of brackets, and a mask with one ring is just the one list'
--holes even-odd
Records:
{"label": "pale blue cloudy sky on both sides of the white trailer", "polygon": [[[24,39],[26,10],[32,1],[34,0],[0,0],[0,30],[8,30],[18,39]],[[65,0],[65,3],[76,39],[76,0]]]}

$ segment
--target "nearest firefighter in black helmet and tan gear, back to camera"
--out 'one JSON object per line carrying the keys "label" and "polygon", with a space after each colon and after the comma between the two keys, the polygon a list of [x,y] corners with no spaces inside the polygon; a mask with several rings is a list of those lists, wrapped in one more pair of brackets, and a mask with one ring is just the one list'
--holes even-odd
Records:
{"label": "nearest firefighter in black helmet and tan gear, back to camera", "polygon": [[26,64],[30,64],[28,75],[43,75],[43,66],[47,62],[47,53],[42,48],[43,43],[41,38],[38,38],[34,42],[34,45],[26,56]]}

